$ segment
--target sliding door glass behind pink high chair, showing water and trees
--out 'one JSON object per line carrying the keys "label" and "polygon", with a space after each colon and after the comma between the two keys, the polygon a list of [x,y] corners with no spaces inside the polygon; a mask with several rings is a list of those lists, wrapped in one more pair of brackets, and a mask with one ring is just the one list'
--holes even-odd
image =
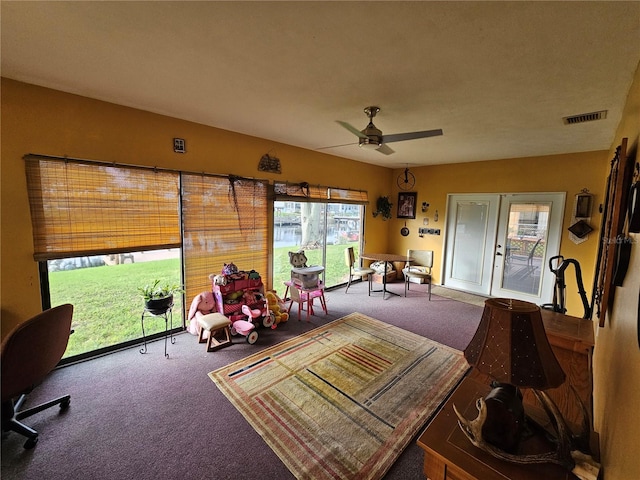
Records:
{"label": "sliding door glass behind pink high chair, showing water and trees", "polygon": [[344,249],[353,246],[356,256],[360,251],[363,210],[346,203],[274,202],[272,286],[278,294],[291,278],[289,252],[298,250],[304,250],[307,265],[325,267],[326,287],[345,283]]}

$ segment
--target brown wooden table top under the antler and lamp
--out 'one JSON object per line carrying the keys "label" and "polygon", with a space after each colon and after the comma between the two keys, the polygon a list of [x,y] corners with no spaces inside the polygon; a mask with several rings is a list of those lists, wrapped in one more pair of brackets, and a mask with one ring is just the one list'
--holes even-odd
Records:
{"label": "brown wooden table top under the antler and lamp", "polygon": [[[488,385],[465,378],[418,439],[424,450],[424,474],[429,480],[573,480],[571,472],[552,463],[518,465],[499,460],[474,447],[458,426],[453,404],[469,419],[477,416],[476,399],[489,393]],[[526,407],[527,414],[543,426],[549,425],[541,409]],[[598,452],[598,438],[592,435]],[[520,453],[553,450],[542,437],[521,443]],[[597,456],[597,454],[596,454]]]}

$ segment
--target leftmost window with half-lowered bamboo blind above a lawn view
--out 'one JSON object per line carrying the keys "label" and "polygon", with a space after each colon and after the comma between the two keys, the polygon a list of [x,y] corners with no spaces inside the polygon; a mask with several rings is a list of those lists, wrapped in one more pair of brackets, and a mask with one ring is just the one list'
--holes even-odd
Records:
{"label": "leftmost window with half-lowered bamboo blind above a lawn view", "polygon": [[[179,174],[33,155],[25,162],[43,308],[74,304],[65,358],[140,337],[137,287],[181,283]],[[166,251],[171,259],[141,261]]]}

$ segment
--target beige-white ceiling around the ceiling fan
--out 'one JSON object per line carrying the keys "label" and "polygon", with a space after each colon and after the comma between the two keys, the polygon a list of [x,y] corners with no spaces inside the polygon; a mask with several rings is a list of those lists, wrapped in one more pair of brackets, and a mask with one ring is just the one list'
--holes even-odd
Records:
{"label": "beige-white ceiling around the ceiling fan", "polygon": [[368,105],[385,134],[444,130],[322,150],[388,167],[606,150],[640,62],[638,1],[1,8],[4,77],[308,149],[355,143],[336,120]]}

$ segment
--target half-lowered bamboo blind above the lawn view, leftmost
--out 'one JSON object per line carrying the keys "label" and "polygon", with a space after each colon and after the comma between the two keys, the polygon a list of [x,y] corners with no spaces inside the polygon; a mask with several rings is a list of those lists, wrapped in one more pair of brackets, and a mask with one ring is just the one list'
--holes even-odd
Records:
{"label": "half-lowered bamboo blind above the lawn view, leftmost", "polygon": [[179,174],[25,157],[37,261],[179,247]]}

